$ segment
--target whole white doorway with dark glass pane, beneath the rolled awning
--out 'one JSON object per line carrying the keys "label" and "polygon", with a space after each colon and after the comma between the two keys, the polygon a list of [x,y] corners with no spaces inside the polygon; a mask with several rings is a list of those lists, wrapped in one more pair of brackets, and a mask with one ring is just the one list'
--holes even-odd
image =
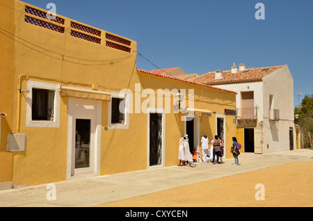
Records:
{"label": "whole white doorway with dark glass pane, beneath the rolled awning", "polygon": [[99,174],[101,101],[69,98],[67,179]]}

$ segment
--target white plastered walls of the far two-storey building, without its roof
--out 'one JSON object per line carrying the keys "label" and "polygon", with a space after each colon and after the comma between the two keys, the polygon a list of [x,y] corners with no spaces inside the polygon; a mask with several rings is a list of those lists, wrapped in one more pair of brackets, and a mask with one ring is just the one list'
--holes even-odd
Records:
{"label": "white plastered walls of the far two-storey building, without its roof", "polygon": [[[289,127],[294,128],[294,80],[287,65],[264,76],[263,81],[214,85],[217,88],[237,92],[236,108],[241,108],[241,92],[253,91],[255,106],[258,106],[258,123],[263,128],[263,153],[289,150]],[[273,95],[272,107],[280,110],[280,120],[269,120],[269,95]]]}

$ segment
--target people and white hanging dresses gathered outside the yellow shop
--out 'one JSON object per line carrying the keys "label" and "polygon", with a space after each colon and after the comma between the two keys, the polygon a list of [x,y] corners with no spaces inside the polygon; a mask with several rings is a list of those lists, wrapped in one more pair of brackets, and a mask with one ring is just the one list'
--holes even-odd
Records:
{"label": "people and white hanging dresses gathered outside the yellow shop", "polygon": [[[232,155],[234,156],[234,164],[239,165],[238,156],[240,154],[239,150],[236,148],[236,137],[232,138]],[[224,140],[220,136],[214,136],[214,139],[211,140],[211,147],[209,147],[209,138],[204,135],[201,138],[201,147],[202,152],[198,152],[198,161],[200,163],[209,163],[209,164],[221,164],[223,162],[224,154]],[[195,167],[193,164],[193,153],[189,149],[188,135],[185,134],[183,138],[179,138],[179,166],[190,165]],[[216,159],[216,161],[215,161]]]}

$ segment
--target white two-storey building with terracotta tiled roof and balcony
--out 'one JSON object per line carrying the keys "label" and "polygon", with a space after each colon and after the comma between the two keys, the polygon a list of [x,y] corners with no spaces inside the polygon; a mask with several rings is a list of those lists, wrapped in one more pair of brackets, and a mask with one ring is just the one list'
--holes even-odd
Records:
{"label": "white two-storey building with terracotta tiled roof and balcony", "polygon": [[237,92],[236,138],[244,152],[300,148],[294,125],[294,79],[287,65],[251,69],[234,65],[232,71],[203,75],[196,82]]}

